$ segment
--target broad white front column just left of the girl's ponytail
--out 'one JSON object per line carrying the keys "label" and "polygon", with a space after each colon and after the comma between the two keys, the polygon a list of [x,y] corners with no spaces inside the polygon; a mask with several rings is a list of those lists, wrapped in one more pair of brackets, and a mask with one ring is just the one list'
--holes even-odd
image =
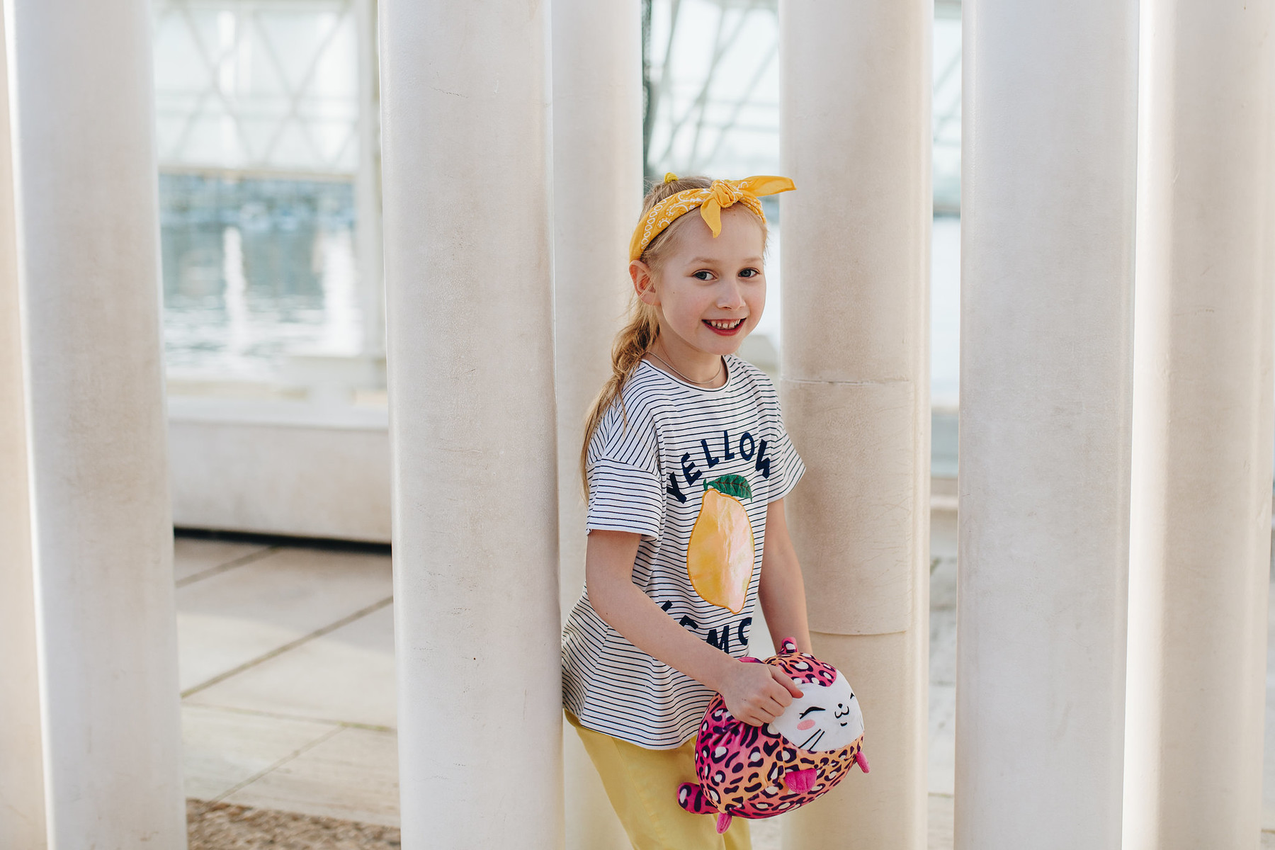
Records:
{"label": "broad white front column just left of the girl's ponytail", "polygon": [[403,846],[558,847],[547,4],[380,13]]}

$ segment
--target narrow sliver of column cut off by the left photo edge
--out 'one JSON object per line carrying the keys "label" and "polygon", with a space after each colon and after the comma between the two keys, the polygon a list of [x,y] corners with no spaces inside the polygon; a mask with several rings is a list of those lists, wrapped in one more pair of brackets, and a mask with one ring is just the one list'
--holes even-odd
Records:
{"label": "narrow sliver of column cut off by the left photo edge", "polygon": [[[3,20],[0,20],[3,25]],[[0,61],[0,847],[43,850],[45,782],[36,666],[18,257],[8,68]]]}

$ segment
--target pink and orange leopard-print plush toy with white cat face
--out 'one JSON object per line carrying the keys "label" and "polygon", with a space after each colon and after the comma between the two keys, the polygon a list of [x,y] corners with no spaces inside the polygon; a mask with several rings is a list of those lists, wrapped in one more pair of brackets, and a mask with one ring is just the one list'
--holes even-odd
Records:
{"label": "pink and orange leopard-print plush toy with white cat face", "polygon": [[677,802],[692,814],[717,814],[718,832],[731,818],[769,818],[810,803],[845,779],[850,765],[868,772],[863,712],[836,668],[797,651],[788,637],[773,664],[802,691],[765,726],[736,720],[720,696],[704,712],[695,746],[699,785],[682,782]]}

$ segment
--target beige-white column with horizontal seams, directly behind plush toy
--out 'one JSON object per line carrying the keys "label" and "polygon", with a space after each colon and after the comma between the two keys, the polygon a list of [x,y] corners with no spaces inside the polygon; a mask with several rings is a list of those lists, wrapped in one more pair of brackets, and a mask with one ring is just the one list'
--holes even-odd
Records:
{"label": "beige-white column with horizontal seams, directly behind plush toy", "polygon": [[931,0],[780,4],[784,417],[815,652],[863,702],[870,775],[787,847],[926,846]]}

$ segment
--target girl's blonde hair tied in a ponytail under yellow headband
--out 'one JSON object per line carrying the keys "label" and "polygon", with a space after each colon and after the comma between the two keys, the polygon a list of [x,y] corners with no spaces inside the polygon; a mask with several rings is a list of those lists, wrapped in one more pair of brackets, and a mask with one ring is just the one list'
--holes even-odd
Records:
{"label": "girl's blonde hair tied in a ponytail under yellow headband", "polygon": [[[652,206],[680,191],[686,191],[687,189],[709,189],[711,186],[713,181],[708,177],[678,177],[667,182],[657,182],[643,199],[641,217],[645,217]],[[685,214],[664,228],[659,236],[650,241],[650,245],[646,246],[646,250],[638,259],[650,266],[652,270],[659,269],[669,251],[669,246],[676,243],[676,233],[691,218],[691,214]],[[765,251],[766,222],[765,219],[757,219],[757,222],[761,224],[761,249]],[[634,292],[629,301],[629,321],[620,329],[620,333],[616,334],[616,340],[611,344],[611,377],[603,384],[602,391],[593,400],[589,413],[584,419],[584,446],[580,449],[580,480],[584,484],[585,498],[589,497],[589,443],[593,441],[593,435],[597,432],[602,417],[606,415],[617,399],[620,400],[621,410],[623,410],[623,396],[621,394],[623,393],[625,384],[629,382],[629,378],[641,363],[643,357],[646,356],[646,352],[650,350],[650,347],[655,344],[658,338],[659,316],[655,308],[641,301],[638,293]]]}

